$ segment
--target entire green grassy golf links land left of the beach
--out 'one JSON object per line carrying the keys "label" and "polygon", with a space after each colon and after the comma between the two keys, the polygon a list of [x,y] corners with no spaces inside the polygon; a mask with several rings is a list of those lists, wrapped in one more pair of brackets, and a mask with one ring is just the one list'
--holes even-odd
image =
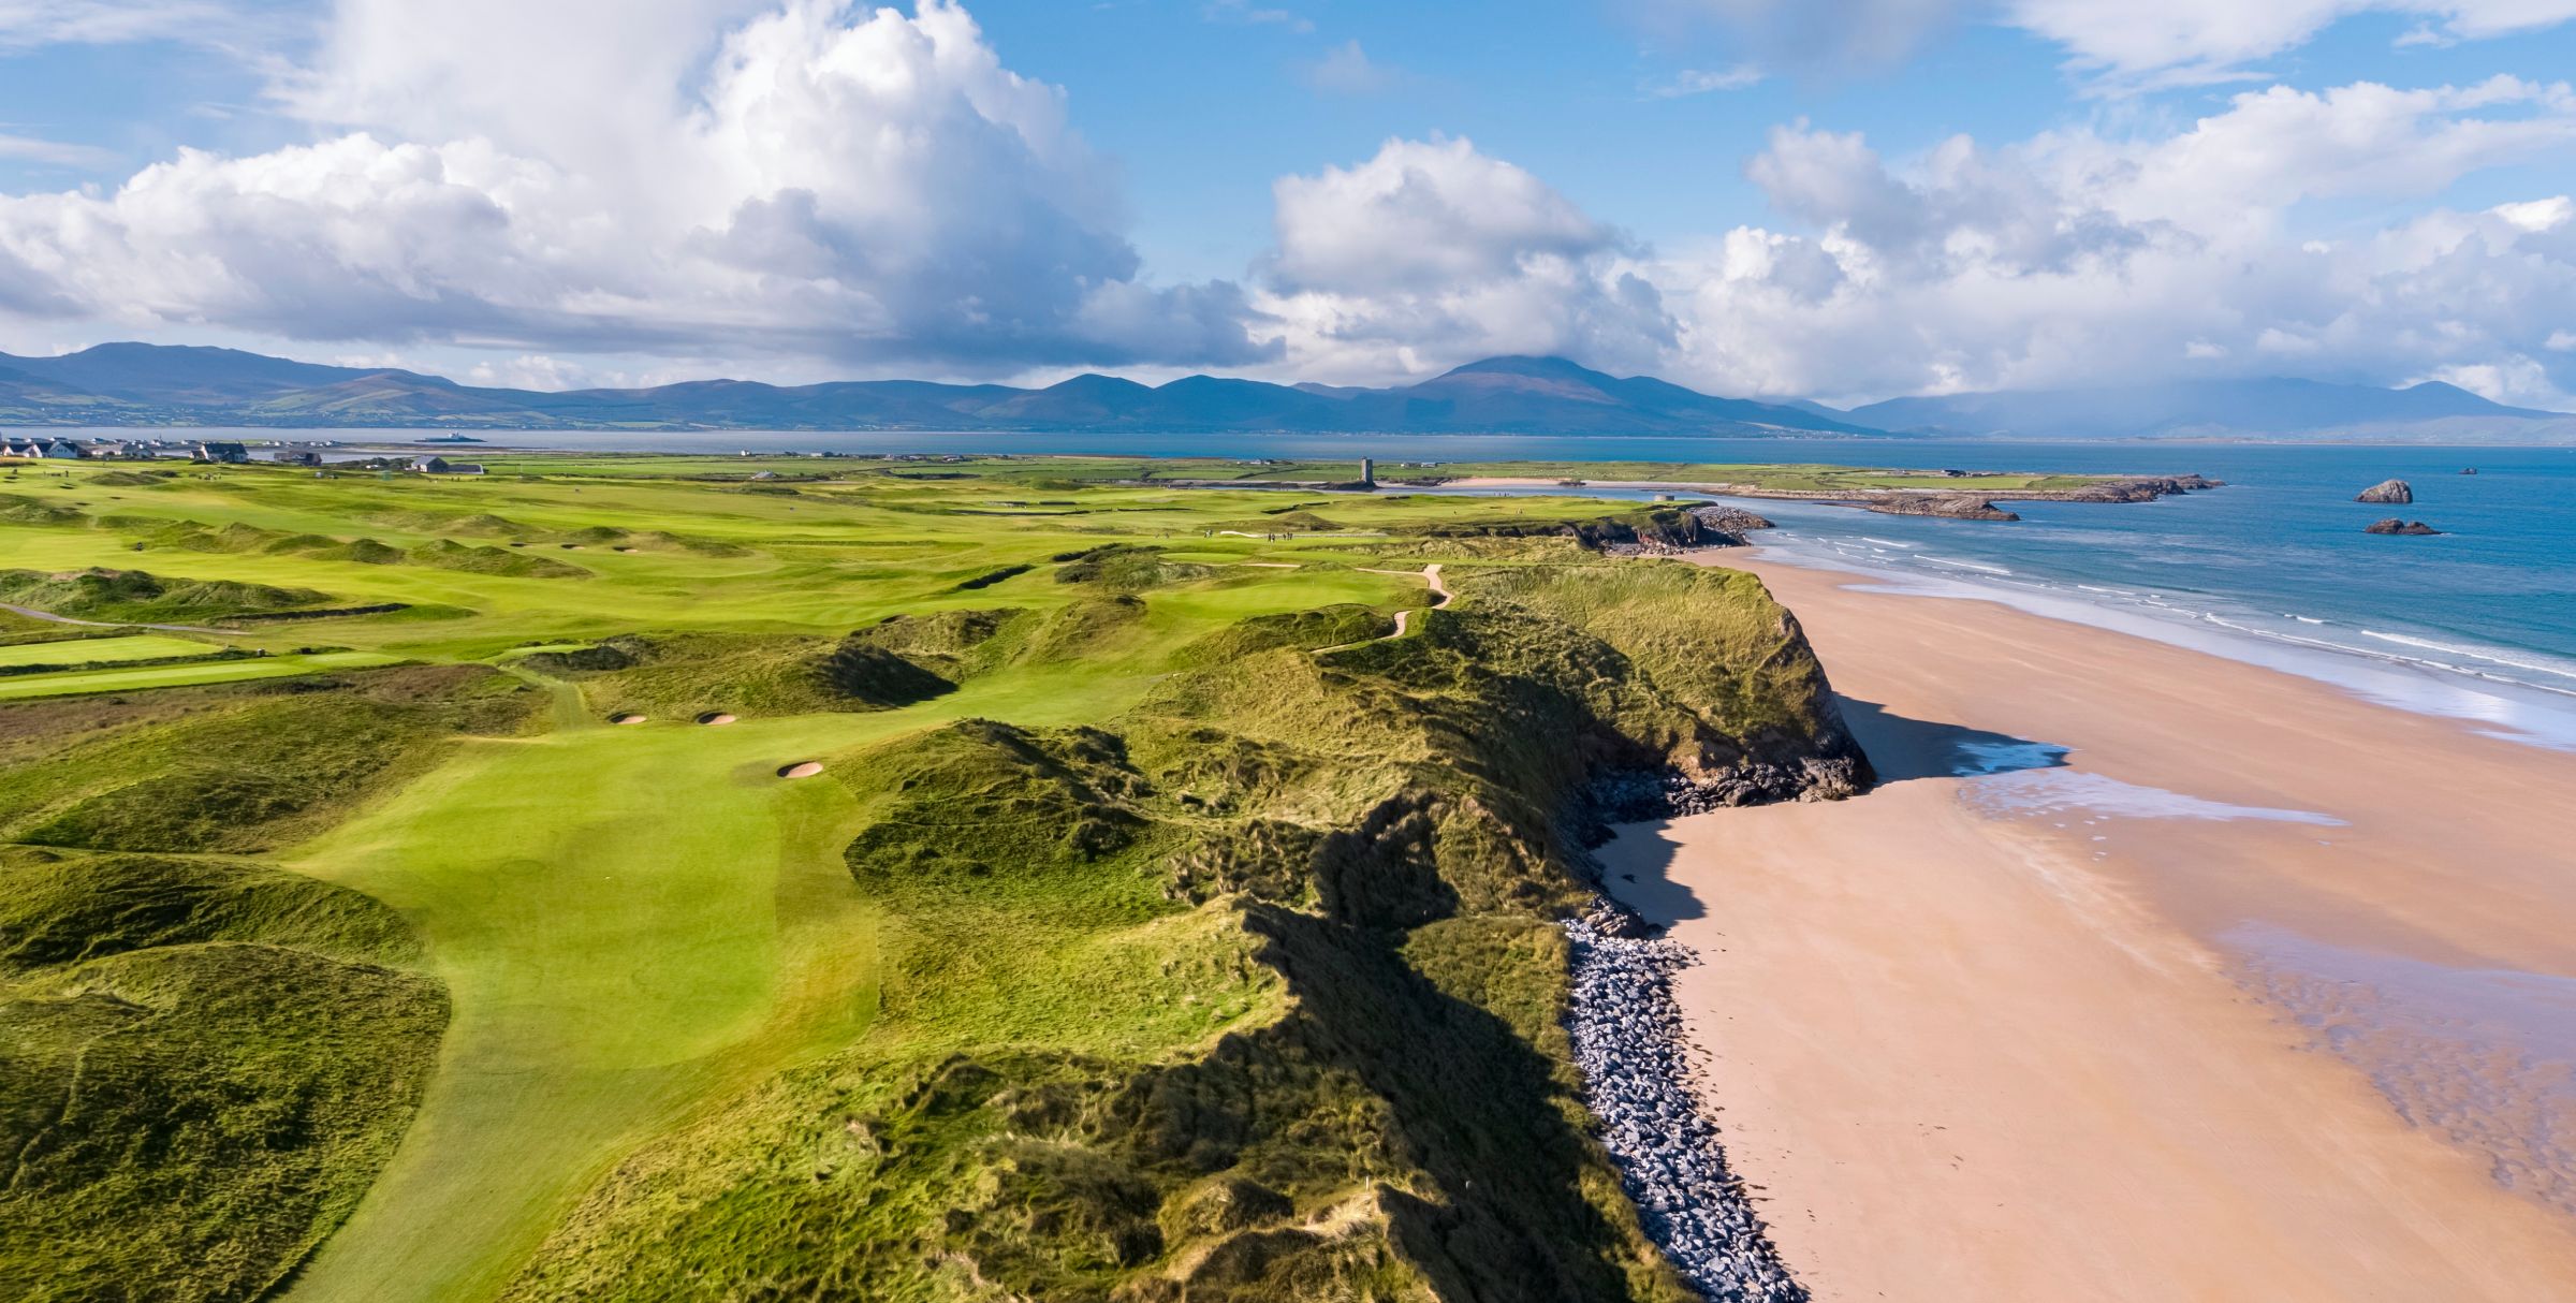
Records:
{"label": "entire green grassy golf links land left of the beach", "polygon": [[[0,675],[0,855],[46,883],[0,914],[0,1071],[36,1082],[0,1141],[41,1159],[0,1288],[121,1298],[167,1275],[152,1226],[255,1203],[155,1298],[1682,1298],[1556,1027],[1589,793],[1865,770],[1759,585],[1592,551],[1677,512],[492,464],[72,466],[0,523],[0,597],[242,652]],[[211,644],[0,664],[70,649]],[[314,896],[211,912],[247,888],[173,865]],[[376,909],[366,945],[314,901]],[[270,968],[28,940],[95,919]],[[116,1058],[137,1143],[49,1148],[82,1056],[242,1040],[209,991],[325,958],[404,1015],[291,1015],[345,1030],[211,1115],[157,1105],[198,1100],[183,1061]],[[222,1141],[286,1107],[268,1159]]]}

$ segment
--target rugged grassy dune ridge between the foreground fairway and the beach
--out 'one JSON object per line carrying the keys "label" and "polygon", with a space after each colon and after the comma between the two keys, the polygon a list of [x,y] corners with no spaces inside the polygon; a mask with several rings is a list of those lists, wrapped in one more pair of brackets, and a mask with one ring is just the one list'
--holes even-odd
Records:
{"label": "rugged grassy dune ridge between the foreground fairway and the beach", "polygon": [[[1548,922],[1605,780],[1855,757],[1759,587],[1628,569],[1327,654],[1376,615],[1247,621],[1105,729],[835,757],[876,1030],[647,1146],[507,1298],[1690,1298],[1584,1130]],[[1723,610],[1667,646],[1659,603]],[[1708,713],[1736,682],[1765,739]]]}

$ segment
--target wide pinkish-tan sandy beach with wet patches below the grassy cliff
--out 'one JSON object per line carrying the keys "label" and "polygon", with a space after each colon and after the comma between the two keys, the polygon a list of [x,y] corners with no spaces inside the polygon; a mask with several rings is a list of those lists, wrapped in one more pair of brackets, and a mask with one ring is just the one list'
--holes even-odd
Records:
{"label": "wide pinkish-tan sandy beach with wet patches below the grassy cliff", "polygon": [[1816,1298],[2576,1298],[2576,757],[1703,559],[1886,780],[1602,847]]}

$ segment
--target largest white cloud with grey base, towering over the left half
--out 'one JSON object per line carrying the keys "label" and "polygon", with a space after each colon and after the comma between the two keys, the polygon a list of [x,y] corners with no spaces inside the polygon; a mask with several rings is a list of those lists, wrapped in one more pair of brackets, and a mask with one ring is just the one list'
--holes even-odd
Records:
{"label": "largest white cloud with grey base, towering over the left half", "polygon": [[1265,355],[1236,286],[1141,278],[1064,93],[945,0],[348,0],[281,95],[322,139],[0,198],[0,312],[943,371]]}

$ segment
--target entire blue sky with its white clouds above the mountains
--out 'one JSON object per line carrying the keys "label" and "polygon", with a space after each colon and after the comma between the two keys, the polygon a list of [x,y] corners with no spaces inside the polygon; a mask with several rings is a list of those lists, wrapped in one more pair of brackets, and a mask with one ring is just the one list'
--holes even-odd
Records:
{"label": "entire blue sky with its white clouds above the mountains", "polygon": [[0,0],[0,350],[2576,391],[2576,0],[538,8]]}

